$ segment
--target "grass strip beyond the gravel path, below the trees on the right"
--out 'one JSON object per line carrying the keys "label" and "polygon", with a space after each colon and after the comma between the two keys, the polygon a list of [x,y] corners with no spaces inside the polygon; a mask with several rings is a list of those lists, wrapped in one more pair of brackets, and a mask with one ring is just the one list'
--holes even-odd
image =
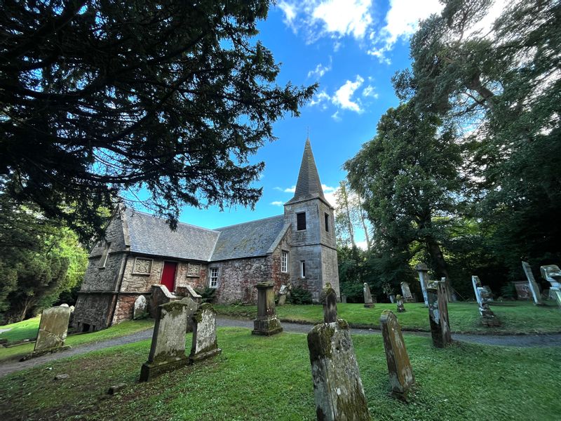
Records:
{"label": "grass strip beyond the gravel path, below the trees on the right", "polygon": [[[253,319],[257,316],[257,306],[215,305],[218,314]],[[367,309],[362,304],[338,304],[339,317],[356,328],[379,328],[379,317],[384,309],[396,312],[395,304],[377,304]],[[403,330],[430,331],[428,309],[420,302],[405,303],[405,313],[397,313]],[[277,307],[281,321],[297,323],[323,322],[321,305],[285,305]],[[451,302],[448,305],[450,326],[454,333],[480,334],[520,334],[561,332],[561,309],[554,302],[546,307],[536,307],[529,302],[505,302],[492,305],[492,310],[501,319],[500,328],[487,328],[480,323],[476,303]]]}

